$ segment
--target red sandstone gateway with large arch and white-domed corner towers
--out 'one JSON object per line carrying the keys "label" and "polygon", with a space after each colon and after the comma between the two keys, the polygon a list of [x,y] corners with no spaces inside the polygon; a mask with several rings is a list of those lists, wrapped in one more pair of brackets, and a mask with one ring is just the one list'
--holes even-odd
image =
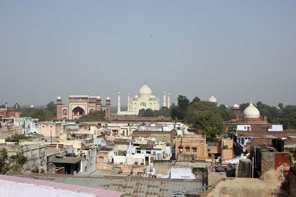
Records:
{"label": "red sandstone gateway with large arch and white-domed corner towers", "polygon": [[106,118],[111,117],[111,99],[107,97],[103,105],[100,96],[69,95],[68,104],[62,104],[62,98],[57,97],[57,119],[76,120],[94,111],[104,111]]}

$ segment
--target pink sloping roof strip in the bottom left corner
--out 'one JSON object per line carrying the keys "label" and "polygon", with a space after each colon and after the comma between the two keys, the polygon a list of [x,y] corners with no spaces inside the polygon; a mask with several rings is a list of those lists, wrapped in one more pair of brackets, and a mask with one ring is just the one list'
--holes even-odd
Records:
{"label": "pink sloping roof strip in the bottom left corner", "polygon": [[45,181],[40,179],[36,180],[32,178],[7,176],[7,175],[1,175],[1,174],[0,174],[0,179],[5,181],[13,181],[13,182],[19,182],[19,183],[59,188],[63,190],[76,191],[80,193],[89,193],[89,194],[96,195],[96,197],[120,197],[123,194],[122,192],[116,192],[116,191],[105,190],[105,189],[97,189],[97,188],[65,184],[65,183],[55,183],[52,181]]}

